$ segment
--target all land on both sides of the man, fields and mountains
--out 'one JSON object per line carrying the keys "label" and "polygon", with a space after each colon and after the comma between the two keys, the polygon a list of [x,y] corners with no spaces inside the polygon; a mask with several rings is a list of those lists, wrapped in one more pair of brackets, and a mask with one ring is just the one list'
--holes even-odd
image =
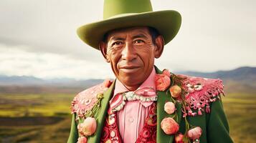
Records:
{"label": "all land on both sides of the man, fields and mountains", "polygon": [[[256,140],[256,67],[213,73],[186,72],[224,81],[224,111],[236,143]],[[75,94],[101,79],[45,80],[0,76],[0,143],[63,143],[70,133]]]}

